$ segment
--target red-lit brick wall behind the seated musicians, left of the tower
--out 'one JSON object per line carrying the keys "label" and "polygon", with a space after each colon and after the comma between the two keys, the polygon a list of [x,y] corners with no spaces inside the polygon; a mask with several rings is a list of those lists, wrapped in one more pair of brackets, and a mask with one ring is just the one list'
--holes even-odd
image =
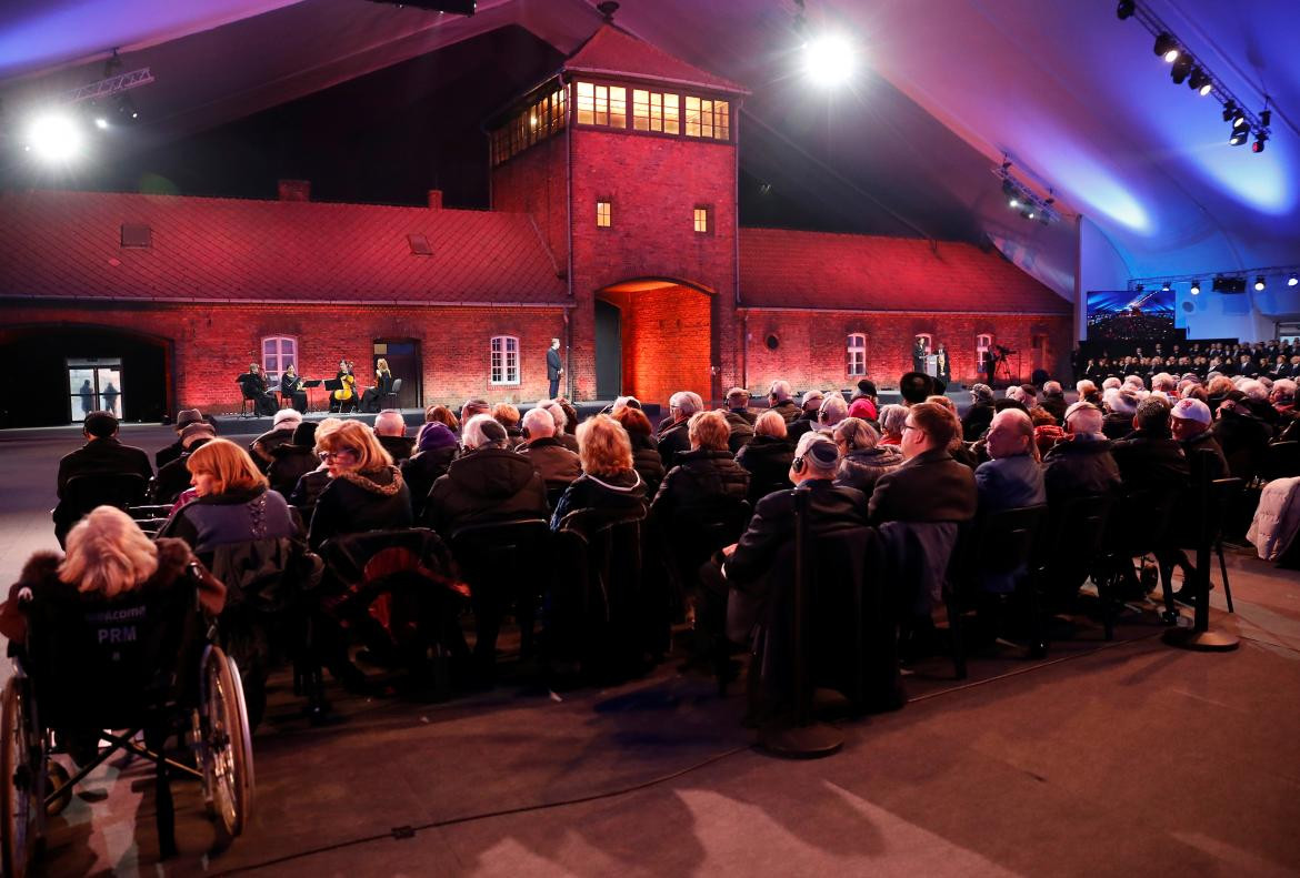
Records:
{"label": "red-lit brick wall behind the seated musicians, left of the tower", "polygon": [[[546,348],[562,335],[563,312],[542,308],[396,308],[324,305],[127,305],[99,303],[94,312],[68,305],[6,307],[8,334],[23,325],[94,323],[170,339],[176,345],[177,408],[237,410],[238,373],[260,362],[261,339],[298,339],[298,371],[307,378],[333,378],[339,358],[356,362],[360,386],[370,384],[374,339],[420,342],[424,404],[454,403],[468,396],[530,403],[546,395]],[[489,383],[493,335],[520,342],[517,386]],[[410,377],[398,375],[399,378]],[[313,400],[324,400],[315,391]]]}

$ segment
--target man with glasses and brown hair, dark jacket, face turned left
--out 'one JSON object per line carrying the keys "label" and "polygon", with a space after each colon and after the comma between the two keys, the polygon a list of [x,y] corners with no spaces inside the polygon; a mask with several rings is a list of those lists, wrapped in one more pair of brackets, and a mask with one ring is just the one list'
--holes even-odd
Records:
{"label": "man with glasses and brown hair, dark jacket, face turned left", "polygon": [[918,403],[907,409],[900,444],[905,462],[876,481],[868,507],[872,523],[967,521],[975,516],[975,474],[948,451],[957,430],[957,418],[941,405]]}

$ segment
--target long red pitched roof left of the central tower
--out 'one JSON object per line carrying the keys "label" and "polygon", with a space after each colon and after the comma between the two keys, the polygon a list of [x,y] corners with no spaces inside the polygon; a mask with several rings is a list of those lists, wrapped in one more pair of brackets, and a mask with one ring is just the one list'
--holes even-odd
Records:
{"label": "long red pitched roof left of the central tower", "polygon": [[[0,194],[0,297],[563,304],[525,214],[113,192]],[[152,247],[121,245],[143,223]],[[407,235],[432,256],[415,256]]]}

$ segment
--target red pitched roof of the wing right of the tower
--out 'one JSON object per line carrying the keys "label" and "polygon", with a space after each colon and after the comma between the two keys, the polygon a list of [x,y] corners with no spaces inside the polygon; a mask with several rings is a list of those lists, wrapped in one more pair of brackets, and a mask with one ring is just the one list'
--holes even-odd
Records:
{"label": "red pitched roof of the wing right of the tower", "polygon": [[1071,314],[1074,305],[974,244],[740,230],[740,296],[750,308]]}

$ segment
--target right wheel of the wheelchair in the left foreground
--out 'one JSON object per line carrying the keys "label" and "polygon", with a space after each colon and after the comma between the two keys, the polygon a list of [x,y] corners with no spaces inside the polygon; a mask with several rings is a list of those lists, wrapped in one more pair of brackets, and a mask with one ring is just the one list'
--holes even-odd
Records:
{"label": "right wheel of the wheelchair in the left foreground", "polygon": [[220,647],[204,653],[200,713],[204,784],[217,821],[234,838],[252,813],[252,736],[239,669]]}

